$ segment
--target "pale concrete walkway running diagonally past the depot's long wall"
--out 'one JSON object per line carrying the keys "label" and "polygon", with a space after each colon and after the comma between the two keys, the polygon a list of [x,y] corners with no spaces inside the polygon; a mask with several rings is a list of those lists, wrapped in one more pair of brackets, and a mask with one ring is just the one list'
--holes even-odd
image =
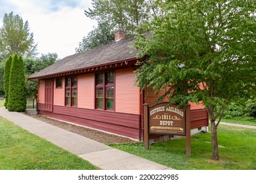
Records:
{"label": "pale concrete walkway running diagonally past the depot's long wall", "polygon": [[53,142],[104,170],[171,170],[171,168],[93,141],[76,133],[0,108],[0,116]]}

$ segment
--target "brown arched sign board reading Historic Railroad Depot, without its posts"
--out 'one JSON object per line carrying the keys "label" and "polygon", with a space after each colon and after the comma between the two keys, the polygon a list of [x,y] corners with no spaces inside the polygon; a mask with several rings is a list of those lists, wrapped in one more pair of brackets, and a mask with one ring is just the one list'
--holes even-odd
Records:
{"label": "brown arched sign board reading Historic Railroad Depot, without its posts", "polygon": [[184,108],[160,103],[149,108],[149,133],[186,136]]}

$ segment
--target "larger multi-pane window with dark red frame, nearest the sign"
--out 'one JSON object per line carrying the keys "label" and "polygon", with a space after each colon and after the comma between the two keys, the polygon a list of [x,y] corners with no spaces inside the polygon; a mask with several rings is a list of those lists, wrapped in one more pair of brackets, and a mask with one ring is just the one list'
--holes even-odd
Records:
{"label": "larger multi-pane window with dark red frame, nearest the sign", "polygon": [[96,108],[114,110],[115,73],[96,74]]}

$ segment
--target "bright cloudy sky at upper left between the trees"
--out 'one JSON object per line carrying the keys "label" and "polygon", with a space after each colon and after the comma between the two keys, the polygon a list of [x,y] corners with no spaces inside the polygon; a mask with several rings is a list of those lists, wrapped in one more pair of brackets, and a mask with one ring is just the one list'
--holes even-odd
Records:
{"label": "bright cloudy sky at upper left between the trees", "polygon": [[37,43],[38,56],[49,52],[64,58],[75,54],[75,48],[96,25],[83,13],[91,0],[0,0],[0,27],[5,13],[13,12],[28,20]]}

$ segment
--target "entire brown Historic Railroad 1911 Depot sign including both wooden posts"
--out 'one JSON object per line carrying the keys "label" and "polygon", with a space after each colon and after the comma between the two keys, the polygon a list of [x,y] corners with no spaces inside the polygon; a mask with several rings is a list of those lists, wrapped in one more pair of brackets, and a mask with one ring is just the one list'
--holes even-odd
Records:
{"label": "entire brown Historic Railroad 1911 Depot sign including both wooden posts", "polygon": [[186,156],[190,151],[190,105],[179,108],[169,103],[158,103],[153,107],[143,105],[144,148],[149,148],[149,134],[186,136]]}

